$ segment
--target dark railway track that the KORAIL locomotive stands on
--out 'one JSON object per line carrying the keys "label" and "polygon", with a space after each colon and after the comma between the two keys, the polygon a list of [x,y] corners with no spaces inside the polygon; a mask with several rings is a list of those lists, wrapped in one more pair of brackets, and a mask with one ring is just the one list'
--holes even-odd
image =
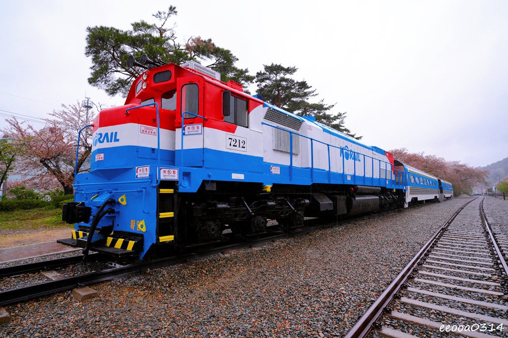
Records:
{"label": "dark railway track that the KORAIL locomotive stands on", "polygon": [[[80,274],[77,276],[72,277],[66,277],[54,281],[47,281],[44,283],[38,283],[33,285],[28,285],[20,288],[10,289],[6,291],[0,292],[0,306],[7,306],[23,301],[27,301],[29,299],[49,295],[56,292],[61,291],[67,291],[72,290],[74,288],[83,287],[87,285],[92,285],[96,283],[100,283],[107,280],[112,280],[114,278],[124,277],[132,274],[136,274],[142,271],[145,271],[146,269],[155,269],[165,266],[170,266],[174,264],[178,264],[180,262],[184,262],[187,260],[195,260],[200,259],[204,257],[208,257],[214,254],[218,254],[220,252],[223,252],[225,250],[232,250],[232,249],[241,249],[245,247],[250,247],[253,245],[260,245],[263,243],[283,239],[283,238],[289,238],[294,236],[299,236],[302,234],[306,234],[313,231],[318,231],[323,228],[331,228],[336,227],[341,224],[353,221],[353,220],[361,220],[366,218],[375,217],[378,215],[384,215],[387,213],[391,213],[394,211],[399,211],[401,209],[396,210],[390,210],[390,211],[382,211],[375,214],[360,216],[360,217],[352,217],[343,219],[338,222],[334,223],[318,223],[313,224],[312,226],[304,226],[300,227],[297,230],[294,230],[290,233],[277,233],[272,234],[267,237],[259,238],[259,239],[253,239],[241,243],[234,243],[234,244],[228,244],[220,247],[214,247],[208,250],[202,250],[199,252],[192,252],[192,251],[186,251],[185,253],[169,256],[165,258],[159,258],[155,260],[149,260],[149,261],[140,261],[140,262],[134,262],[132,264],[126,264],[126,265],[116,265],[110,269],[105,269],[101,271],[86,273],[86,274]],[[306,223],[315,223],[315,219],[309,219],[306,221]],[[100,261],[103,259],[100,254],[90,254],[88,255],[89,261]],[[56,268],[62,268],[66,267],[72,264],[76,264],[80,262],[83,259],[82,255],[73,256],[73,257],[67,257],[67,258],[59,258],[55,260],[46,260],[26,265],[19,265],[19,266],[12,266],[7,268],[1,268],[0,269],[0,278],[6,278],[11,276],[17,276],[22,275],[26,273],[33,273],[33,272],[41,272]]]}

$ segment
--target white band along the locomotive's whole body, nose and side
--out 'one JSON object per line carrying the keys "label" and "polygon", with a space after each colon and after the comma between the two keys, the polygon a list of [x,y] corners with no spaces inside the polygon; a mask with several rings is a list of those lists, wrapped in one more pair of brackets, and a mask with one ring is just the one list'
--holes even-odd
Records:
{"label": "white band along the locomotive's whole body, nose and side", "polygon": [[[313,167],[314,169],[328,170],[329,159],[327,144],[330,144],[330,170],[332,172],[344,172],[347,175],[354,175],[356,173],[357,176],[365,176],[366,178],[395,179],[392,166],[386,155],[375,152],[371,147],[363,145],[345,134],[341,133],[342,137],[339,137],[325,132],[325,126],[297,116],[295,117],[302,122],[299,130],[292,130],[278,125],[275,122],[265,120],[264,117],[268,108],[269,107],[260,105],[252,109],[248,115],[249,128],[237,126],[234,133],[206,127],[203,128],[201,134],[184,135],[184,149],[199,149],[205,147],[221,152],[260,157],[263,158],[263,161],[266,163],[289,166],[291,162],[289,152],[278,151],[274,149],[273,146],[275,128],[271,126],[277,126],[314,140],[312,141],[312,161],[310,139],[295,136],[299,137],[300,141],[298,149],[294,149],[294,167]],[[293,116],[293,114],[287,112],[284,114]],[[268,125],[262,124],[262,122]],[[198,119],[193,121],[193,124],[198,123],[200,123]],[[101,148],[112,148],[124,145],[156,148],[157,136],[141,133],[140,127],[146,127],[151,130],[156,129],[152,126],[144,126],[136,123],[98,128],[92,135],[92,152]],[[339,133],[338,131],[334,132]],[[110,136],[106,140],[104,140],[105,134]],[[177,150],[181,149],[181,128],[177,128],[176,131],[161,128],[160,134],[161,149],[170,151],[175,150],[175,148]],[[227,148],[228,134],[245,138],[245,151]],[[102,138],[100,138],[101,135]],[[340,148],[346,149],[345,153],[349,153],[346,155],[342,152],[341,154]],[[344,168],[342,168],[342,164],[344,164]],[[248,169],[249,168],[246,168],[246,170]]]}

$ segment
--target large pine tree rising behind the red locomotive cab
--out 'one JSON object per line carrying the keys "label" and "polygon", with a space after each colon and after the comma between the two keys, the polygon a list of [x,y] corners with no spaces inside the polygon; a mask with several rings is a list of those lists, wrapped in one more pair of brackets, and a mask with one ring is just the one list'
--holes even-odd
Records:
{"label": "large pine tree rising behind the red locomotive cab", "polygon": [[218,71],[225,82],[233,80],[248,85],[254,80],[248,69],[235,66],[238,58],[230,50],[215,45],[211,39],[193,36],[180,43],[174,26],[167,27],[168,21],[176,14],[176,7],[170,6],[167,11],[153,14],[157,23],[141,20],[132,23],[129,30],[87,27],[85,55],[92,59],[88,83],[104,89],[111,96],[126,96],[132,82],[144,71],[136,66],[127,68],[126,60],[130,54],[139,60],[144,53],[160,63],[200,62]]}

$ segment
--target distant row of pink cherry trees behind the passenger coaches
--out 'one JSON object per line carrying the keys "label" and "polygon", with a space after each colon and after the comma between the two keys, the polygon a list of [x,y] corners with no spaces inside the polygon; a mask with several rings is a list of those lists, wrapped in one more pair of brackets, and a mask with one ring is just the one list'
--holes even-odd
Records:
{"label": "distant row of pink cherry trees behind the passenger coaches", "polygon": [[460,161],[446,161],[435,155],[409,153],[406,148],[390,151],[394,158],[453,184],[455,195],[469,193],[476,184],[484,184],[487,171],[471,167]]}

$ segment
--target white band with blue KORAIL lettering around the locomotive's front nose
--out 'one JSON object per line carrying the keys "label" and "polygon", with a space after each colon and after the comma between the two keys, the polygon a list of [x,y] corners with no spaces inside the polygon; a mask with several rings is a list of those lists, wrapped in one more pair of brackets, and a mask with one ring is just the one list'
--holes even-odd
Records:
{"label": "white band with blue KORAIL lettering around the locomotive's front nose", "polygon": [[[144,146],[150,148],[157,147],[157,136],[141,133],[140,127],[157,130],[156,127],[145,126],[137,123],[126,123],[115,126],[100,127],[92,134],[92,152],[102,148],[112,148],[123,145]],[[116,133],[116,134],[115,134]],[[160,129],[161,149],[175,149],[175,132],[168,129]],[[107,140],[104,136],[108,134]],[[102,135],[102,136],[101,136]],[[110,137],[109,135],[112,135]],[[100,136],[102,142],[100,142]]]}

